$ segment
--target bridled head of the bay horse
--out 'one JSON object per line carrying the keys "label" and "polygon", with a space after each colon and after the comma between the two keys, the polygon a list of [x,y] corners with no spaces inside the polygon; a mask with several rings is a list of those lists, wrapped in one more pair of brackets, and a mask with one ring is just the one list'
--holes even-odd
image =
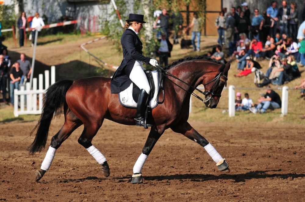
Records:
{"label": "bridled head of the bay horse", "polygon": [[[221,92],[224,89],[224,86],[227,86],[228,80],[228,71],[230,69],[230,63],[221,65],[217,74],[214,77],[206,77],[210,78],[208,81],[204,81],[204,89],[203,92],[205,96],[204,104],[209,108],[216,108],[221,97]],[[216,73],[216,72],[214,72]]]}

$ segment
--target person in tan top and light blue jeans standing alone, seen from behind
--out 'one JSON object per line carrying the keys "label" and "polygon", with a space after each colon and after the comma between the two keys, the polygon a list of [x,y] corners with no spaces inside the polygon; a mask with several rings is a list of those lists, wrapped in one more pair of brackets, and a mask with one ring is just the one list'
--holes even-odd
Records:
{"label": "person in tan top and light blue jeans standing alone, seen from behind", "polygon": [[[200,37],[201,37],[202,22],[201,22],[201,18],[198,18],[197,13],[194,13],[192,23],[188,26],[188,29],[190,29],[191,27],[193,27],[193,30],[192,30],[193,50],[200,51]],[[197,36],[197,45],[195,45],[196,36]]]}

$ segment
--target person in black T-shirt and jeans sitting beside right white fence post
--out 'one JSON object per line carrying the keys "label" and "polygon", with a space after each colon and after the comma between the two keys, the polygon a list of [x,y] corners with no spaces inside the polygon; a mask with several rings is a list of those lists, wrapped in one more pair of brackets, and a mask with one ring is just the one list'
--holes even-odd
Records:
{"label": "person in black T-shirt and jeans sitting beside right white fence post", "polygon": [[259,104],[256,107],[249,108],[252,113],[265,113],[267,109],[274,110],[282,106],[281,97],[274,90],[270,89],[270,86],[267,86],[266,94],[261,96],[257,102]]}

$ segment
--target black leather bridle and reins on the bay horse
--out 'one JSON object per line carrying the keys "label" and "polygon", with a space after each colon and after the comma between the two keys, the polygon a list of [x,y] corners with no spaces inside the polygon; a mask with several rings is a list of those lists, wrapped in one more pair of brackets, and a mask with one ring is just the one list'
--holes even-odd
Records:
{"label": "black leather bridle and reins on the bay horse", "polygon": [[[222,65],[225,65],[225,64],[222,64]],[[218,84],[219,84],[220,81],[223,81],[223,82],[225,83],[225,87],[227,87],[227,80],[228,80],[228,78],[227,78],[225,75],[223,75],[223,73],[224,73],[223,71],[220,72],[218,75],[216,75],[215,78],[214,78],[213,80],[211,80],[210,82],[208,82],[208,83],[206,83],[206,84],[203,84],[203,85],[207,85],[207,84],[209,84],[209,83],[211,83],[211,82],[214,81],[214,83],[213,83],[212,87],[210,88],[210,90],[209,90],[209,91],[204,91],[204,92],[203,92],[203,91],[199,90],[198,88],[195,88],[194,86],[192,86],[192,85],[186,83],[185,81],[182,81],[180,78],[178,78],[178,77],[172,75],[172,74],[169,73],[168,71],[166,71],[166,70],[160,68],[159,63],[158,63],[158,66],[157,66],[156,68],[159,70],[159,72],[160,72],[162,75],[164,75],[164,76],[168,76],[168,75],[169,75],[169,76],[171,76],[171,77],[177,79],[178,81],[184,83],[184,84],[187,85],[188,87],[190,87],[190,88],[192,89],[191,92],[188,91],[188,90],[186,90],[186,89],[184,89],[183,87],[181,87],[181,86],[178,85],[177,83],[173,82],[172,80],[170,80],[170,82],[174,83],[174,84],[177,85],[179,88],[183,89],[185,92],[188,92],[189,94],[191,94],[191,95],[195,96],[196,98],[198,98],[199,100],[201,100],[206,106],[208,106],[210,100],[212,100],[215,96],[221,97],[221,94],[215,93],[215,91],[216,91],[216,89],[217,89],[217,86],[218,86]],[[165,73],[164,73],[164,72],[165,72]],[[221,78],[221,76],[223,76],[224,79]],[[163,86],[163,87],[164,87],[164,86]],[[203,95],[205,96],[205,99],[202,99],[201,97],[197,96],[197,95],[193,92],[194,90],[196,90],[196,91],[200,92],[201,94],[203,94]],[[164,94],[164,93],[163,93],[163,94]],[[163,98],[164,98],[164,96],[163,96]]]}

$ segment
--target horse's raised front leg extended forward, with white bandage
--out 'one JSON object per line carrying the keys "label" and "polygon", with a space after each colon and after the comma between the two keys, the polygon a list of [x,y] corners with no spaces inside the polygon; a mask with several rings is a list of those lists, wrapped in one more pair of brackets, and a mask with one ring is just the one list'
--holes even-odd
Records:
{"label": "horse's raised front leg extended forward, with white bandage", "polygon": [[199,145],[203,146],[206,152],[216,163],[219,171],[230,172],[229,165],[225,161],[225,158],[222,158],[216,149],[206,140],[206,138],[202,137],[188,122],[179,123],[171,127],[171,129],[174,132],[181,133],[190,140],[195,141]]}

